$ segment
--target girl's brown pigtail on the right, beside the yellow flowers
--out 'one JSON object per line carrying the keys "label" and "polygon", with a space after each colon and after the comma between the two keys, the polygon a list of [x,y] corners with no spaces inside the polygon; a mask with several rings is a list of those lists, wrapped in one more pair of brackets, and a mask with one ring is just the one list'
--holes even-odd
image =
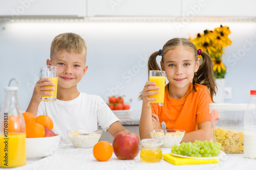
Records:
{"label": "girl's brown pigtail on the right, beside the yellow flowers", "polygon": [[203,62],[200,64],[197,74],[193,79],[193,88],[195,89],[195,83],[205,85],[210,92],[211,100],[213,100],[216,94],[217,85],[214,79],[214,71],[211,57],[202,51],[201,56]]}

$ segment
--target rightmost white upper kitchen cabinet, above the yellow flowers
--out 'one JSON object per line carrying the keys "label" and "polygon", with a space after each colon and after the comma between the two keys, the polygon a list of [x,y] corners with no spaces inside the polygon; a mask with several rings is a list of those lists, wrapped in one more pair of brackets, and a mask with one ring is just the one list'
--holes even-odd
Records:
{"label": "rightmost white upper kitchen cabinet, above the yellow flowers", "polygon": [[182,0],[182,16],[255,17],[255,0]]}

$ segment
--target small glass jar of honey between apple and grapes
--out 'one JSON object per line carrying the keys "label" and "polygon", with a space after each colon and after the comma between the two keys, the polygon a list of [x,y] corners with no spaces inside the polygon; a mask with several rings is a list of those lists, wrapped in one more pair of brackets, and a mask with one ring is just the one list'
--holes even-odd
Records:
{"label": "small glass jar of honey between apple and grapes", "polygon": [[140,158],[142,162],[159,162],[162,159],[163,143],[158,139],[142,139]]}

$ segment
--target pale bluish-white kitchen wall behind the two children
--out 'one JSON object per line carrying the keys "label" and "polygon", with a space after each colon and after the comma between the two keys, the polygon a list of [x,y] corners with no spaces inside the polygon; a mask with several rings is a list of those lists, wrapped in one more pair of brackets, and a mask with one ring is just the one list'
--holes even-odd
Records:
{"label": "pale bluish-white kitchen wall behind the two children", "polygon": [[147,58],[171,38],[187,38],[188,34],[194,37],[220,24],[230,27],[233,41],[223,56],[228,69],[226,86],[232,87],[232,99],[225,102],[247,103],[249,90],[256,89],[255,22],[190,22],[177,30],[174,22],[1,21],[0,104],[4,100],[3,87],[11,78],[17,78],[19,106],[26,110],[40,69],[49,58],[52,39],[60,33],[73,32],[88,45],[89,69],[78,90],[106,99],[121,82],[118,95],[125,95],[126,102],[132,99],[132,108],[140,110],[141,101],[137,99],[147,80]]}

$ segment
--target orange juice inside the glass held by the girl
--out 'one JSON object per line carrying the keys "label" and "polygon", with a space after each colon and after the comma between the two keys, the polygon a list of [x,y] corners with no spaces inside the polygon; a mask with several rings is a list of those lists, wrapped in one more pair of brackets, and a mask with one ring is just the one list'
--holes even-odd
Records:
{"label": "orange juice inside the glass held by the girl", "polygon": [[[150,81],[155,82],[156,86],[160,87],[158,94],[150,95],[149,98],[157,98],[156,101],[150,102],[150,105],[163,106],[165,76],[150,76]],[[158,90],[154,90],[158,91]]]}

